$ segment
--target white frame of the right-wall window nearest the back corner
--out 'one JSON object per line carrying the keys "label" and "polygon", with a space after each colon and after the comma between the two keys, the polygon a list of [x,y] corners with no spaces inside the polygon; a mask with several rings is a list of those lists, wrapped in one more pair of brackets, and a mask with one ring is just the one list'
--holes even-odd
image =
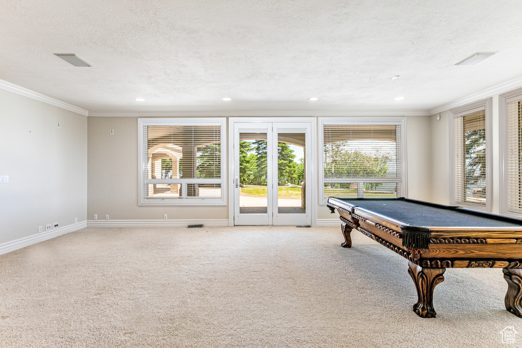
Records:
{"label": "white frame of the right-wall window nearest the back corner", "polygon": [[[456,177],[455,177],[455,156],[457,153],[455,144],[455,118],[484,110],[485,131],[486,131],[486,202],[485,206],[474,205],[472,203],[457,202]],[[491,212],[492,193],[493,193],[493,163],[492,163],[492,125],[491,125],[491,98],[479,100],[473,103],[455,107],[449,110],[449,204],[473,210]]]}

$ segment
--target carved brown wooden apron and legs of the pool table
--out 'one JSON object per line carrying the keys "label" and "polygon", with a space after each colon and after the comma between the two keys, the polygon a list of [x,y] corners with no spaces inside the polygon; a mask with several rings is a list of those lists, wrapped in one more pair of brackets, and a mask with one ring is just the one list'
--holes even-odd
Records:
{"label": "carved brown wooden apron and legs of the pool table", "polygon": [[505,306],[522,318],[522,229],[520,227],[429,226],[429,248],[402,246],[407,223],[329,198],[331,212],[340,215],[345,237],[342,247],[352,245],[350,232],[360,231],[408,259],[408,273],[417,289],[413,311],[421,318],[434,318],[433,290],[444,281],[446,268],[502,268],[508,284]]}

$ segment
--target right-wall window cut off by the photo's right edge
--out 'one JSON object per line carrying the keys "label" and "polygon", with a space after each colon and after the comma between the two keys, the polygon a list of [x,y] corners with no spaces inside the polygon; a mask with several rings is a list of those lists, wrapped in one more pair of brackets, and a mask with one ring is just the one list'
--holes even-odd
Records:
{"label": "right-wall window cut off by the photo's right edge", "polygon": [[[522,90],[500,96],[501,213],[522,217]],[[502,142],[501,142],[502,143]]]}

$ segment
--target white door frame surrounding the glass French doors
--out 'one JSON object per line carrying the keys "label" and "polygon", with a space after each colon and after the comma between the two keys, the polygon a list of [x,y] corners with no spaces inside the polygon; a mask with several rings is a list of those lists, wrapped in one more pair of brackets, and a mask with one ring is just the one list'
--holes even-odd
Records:
{"label": "white door frame surrounding the glass French doors", "polygon": [[[288,124],[310,124],[310,145],[306,146],[306,151],[310,154],[309,174],[310,179],[307,180],[306,184],[311,185],[310,188],[310,221],[312,226],[317,225],[317,188],[318,188],[318,157],[317,157],[317,118],[316,117],[229,117],[229,171],[228,171],[228,182],[229,185],[229,226],[234,226],[234,207],[235,207],[235,194],[233,185],[234,173],[235,173],[235,159],[234,159],[234,128],[236,123],[288,123]],[[298,125],[296,125],[299,128]]]}

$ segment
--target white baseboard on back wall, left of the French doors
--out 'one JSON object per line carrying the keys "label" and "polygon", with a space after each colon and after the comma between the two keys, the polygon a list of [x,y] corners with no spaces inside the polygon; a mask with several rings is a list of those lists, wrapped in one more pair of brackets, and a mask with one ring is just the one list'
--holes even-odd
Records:
{"label": "white baseboard on back wall, left of the French doors", "polygon": [[228,219],[200,220],[88,220],[87,227],[186,227],[187,225],[228,226]]}

